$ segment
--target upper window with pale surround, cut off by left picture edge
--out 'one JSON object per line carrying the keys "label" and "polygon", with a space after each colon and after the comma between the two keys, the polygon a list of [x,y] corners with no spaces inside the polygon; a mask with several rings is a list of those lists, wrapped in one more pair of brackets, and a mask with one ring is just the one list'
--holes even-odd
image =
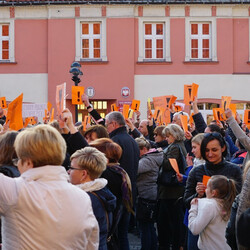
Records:
{"label": "upper window with pale surround, cut off by left picture edge", "polygon": [[1,23],[0,20],[0,61],[14,62],[13,21]]}

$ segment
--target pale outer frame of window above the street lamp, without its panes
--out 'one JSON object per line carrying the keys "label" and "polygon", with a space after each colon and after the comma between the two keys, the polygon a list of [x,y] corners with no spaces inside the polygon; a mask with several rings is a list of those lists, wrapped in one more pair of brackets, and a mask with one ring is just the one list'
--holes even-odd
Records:
{"label": "pale outer frame of window above the street lamp, without its panes", "polygon": [[[100,23],[100,58],[82,58],[82,23]],[[106,19],[105,18],[77,18],[76,29],[76,56],[75,61],[107,61],[106,47]],[[90,39],[91,40],[91,39]],[[93,47],[93,46],[92,46]]]}

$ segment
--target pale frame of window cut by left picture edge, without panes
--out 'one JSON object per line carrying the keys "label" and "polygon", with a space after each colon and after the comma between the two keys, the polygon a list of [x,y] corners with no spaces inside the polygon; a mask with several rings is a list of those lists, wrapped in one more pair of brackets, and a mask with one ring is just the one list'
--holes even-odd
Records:
{"label": "pale frame of window cut by left picture edge, without panes", "polygon": [[[9,59],[1,59],[0,62],[15,62],[15,46],[14,46],[14,20],[6,20],[6,19],[0,19],[0,25],[9,25]],[[0,31],[2,32],[2,30]],[[2,36],[2,34],[1,34]],[[1,45],[0,45],[0,54],[2,54],[2,39],[0,39]]]}

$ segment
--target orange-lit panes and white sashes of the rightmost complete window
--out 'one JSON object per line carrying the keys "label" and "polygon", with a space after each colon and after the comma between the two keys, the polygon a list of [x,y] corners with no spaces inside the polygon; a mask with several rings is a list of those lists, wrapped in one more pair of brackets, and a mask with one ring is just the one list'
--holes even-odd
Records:
{"label": "orange-lit panes and white sashes of the rightmost complete window", "polygon": [[191,23],[191,59],[211,59],[210,23]]}

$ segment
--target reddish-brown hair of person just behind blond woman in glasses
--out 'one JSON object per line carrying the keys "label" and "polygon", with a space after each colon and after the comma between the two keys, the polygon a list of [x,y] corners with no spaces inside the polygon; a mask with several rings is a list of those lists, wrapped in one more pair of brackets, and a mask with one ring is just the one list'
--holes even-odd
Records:
{"label": "reddish-brown hair of person just behind blond woman in glasses", "polygon": [[89,144],[105,154],[109,163],[117,163],[122,156],[122,148],[109,138],[100,138]]}

